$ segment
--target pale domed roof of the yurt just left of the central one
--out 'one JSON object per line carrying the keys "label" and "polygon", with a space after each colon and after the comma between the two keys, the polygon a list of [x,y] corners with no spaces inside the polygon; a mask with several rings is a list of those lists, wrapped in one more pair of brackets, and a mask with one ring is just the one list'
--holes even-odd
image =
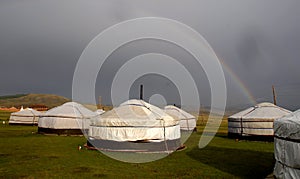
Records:
{"label": "pale domed roof of the yurt just left of the central one", "polygon": [[96,115],[97,113],[90,111],[81,104],[76,102],[67,102],[61,106],[50,109],[43,116],[93,117]]}

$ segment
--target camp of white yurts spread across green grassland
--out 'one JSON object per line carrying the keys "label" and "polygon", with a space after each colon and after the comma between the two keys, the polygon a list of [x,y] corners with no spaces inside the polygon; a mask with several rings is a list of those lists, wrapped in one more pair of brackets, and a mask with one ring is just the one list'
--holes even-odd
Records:
{"label": "camp of white yurts spread across green grassland", "polygon": [[[61,105],[48,111],[24,106],[17,112],[2,109],[2,177],[298,176],[294,168],[300,150],[298,111],[260,103],[225,115],[212,141],[199,148],[209,122],[204,110],[194,115],[174,105],[159,108],[137,99],[101,110],[57,101]],[[116,168],[120,172],[115,172]]]}

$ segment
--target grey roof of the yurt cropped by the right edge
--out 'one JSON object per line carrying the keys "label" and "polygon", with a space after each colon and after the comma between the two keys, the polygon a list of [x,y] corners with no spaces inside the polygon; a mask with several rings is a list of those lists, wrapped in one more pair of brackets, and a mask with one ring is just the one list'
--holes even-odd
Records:
{"label": "grey roof of the yurt cropped by the right edge", "polygon": [[300,140],[300,109],[274,121],[274,134]]}

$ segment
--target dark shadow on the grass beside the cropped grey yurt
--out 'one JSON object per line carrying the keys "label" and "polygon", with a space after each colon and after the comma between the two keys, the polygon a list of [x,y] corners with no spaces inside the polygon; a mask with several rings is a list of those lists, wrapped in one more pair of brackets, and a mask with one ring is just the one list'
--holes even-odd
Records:
{"label": "dark shadow on the grass beside the cropped grey yurt", "polygon": [[187,152],[191,158],[241,178],[265,178],[272,173],[275,159],[271,152],[258,152],[207,146]]}

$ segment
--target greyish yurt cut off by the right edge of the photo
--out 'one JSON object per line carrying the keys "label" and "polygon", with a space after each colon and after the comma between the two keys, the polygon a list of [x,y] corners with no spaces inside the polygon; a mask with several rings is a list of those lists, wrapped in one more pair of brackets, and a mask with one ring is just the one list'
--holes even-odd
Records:
{"label": "greyish yurt cut off by the right edge of the photo", "polygon": [[276,178],[300,178],[300,109],[274,121]]}

